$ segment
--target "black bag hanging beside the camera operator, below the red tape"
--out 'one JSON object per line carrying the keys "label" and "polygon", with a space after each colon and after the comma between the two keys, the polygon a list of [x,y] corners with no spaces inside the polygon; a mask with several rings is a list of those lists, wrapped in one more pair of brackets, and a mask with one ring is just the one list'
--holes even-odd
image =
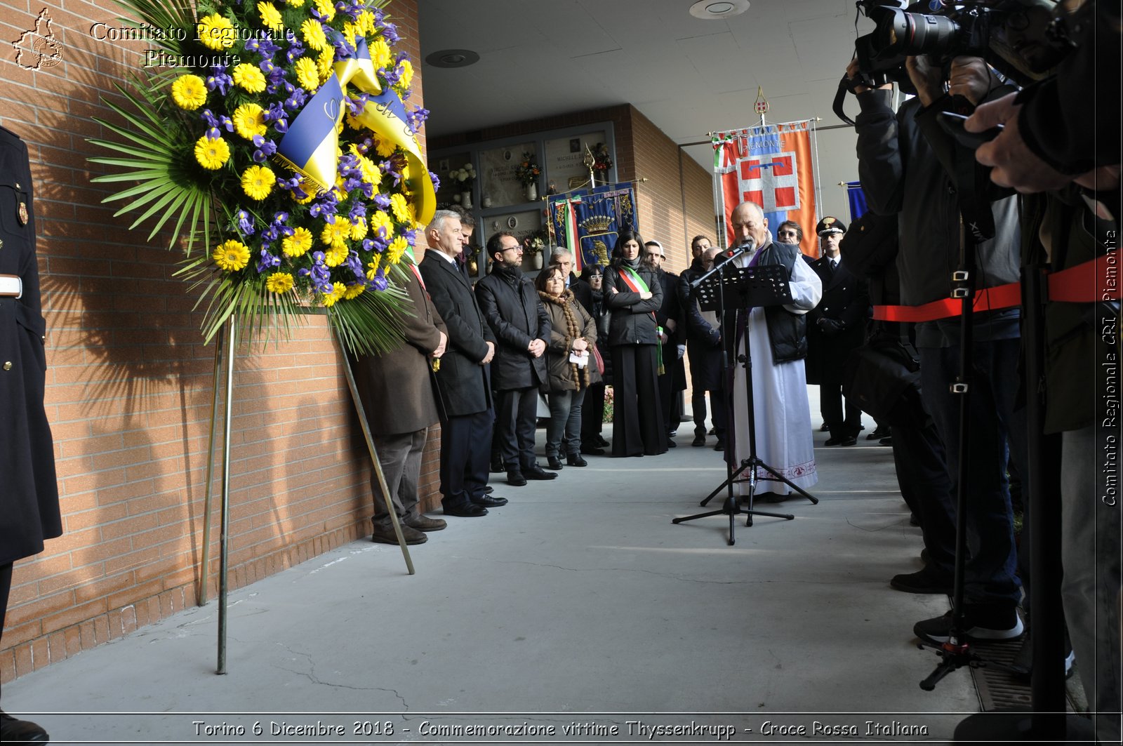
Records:
{"label": "black bag hanging beside the camera operator, below the red tape", "polygon": [[917,425],[928,418],[920,397],[920,357],[894,336],[875,336],[850,353],[842,393],[884,425]]}

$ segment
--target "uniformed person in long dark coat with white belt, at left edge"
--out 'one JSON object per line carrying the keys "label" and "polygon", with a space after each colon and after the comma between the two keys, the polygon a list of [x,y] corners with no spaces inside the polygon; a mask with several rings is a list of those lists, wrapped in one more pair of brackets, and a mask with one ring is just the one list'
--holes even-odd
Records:
{"label": "uniformed person in long dark coat with white belt, at left edge", "polygon": [[[54,442],[43,406],[46,328],[27,146],[0,127],[0,635],[12,565],[63,533]],[[47,733],[0,712],[0,742],[21,740],[46,742]]]}

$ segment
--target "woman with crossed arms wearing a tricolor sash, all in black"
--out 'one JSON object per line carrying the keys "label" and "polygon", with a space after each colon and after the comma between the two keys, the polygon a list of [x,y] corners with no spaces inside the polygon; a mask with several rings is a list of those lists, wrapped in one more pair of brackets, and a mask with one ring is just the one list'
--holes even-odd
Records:
{"label": "woman with crossed arms wearing a tricolor sash, all in black", "polygon": [[604,270],[604,308],[610,313],[614,403],[613,456],[654,456],[667,452],[659,404],[659,330],[655,311],[663,304],[663,283],[640,262],[643,239],[622,230]]}

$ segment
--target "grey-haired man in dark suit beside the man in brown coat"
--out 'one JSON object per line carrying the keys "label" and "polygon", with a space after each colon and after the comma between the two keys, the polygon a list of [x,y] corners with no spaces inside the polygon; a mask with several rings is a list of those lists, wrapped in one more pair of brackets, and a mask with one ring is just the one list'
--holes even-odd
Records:
{"label": "grey-haired man in dark suit beside the man in brown coat", "polygon": [[448,346],[437,371],[437,392],[445,419],[440,427],[440,493],[446,516],[487,515],[487,507],[506,504],[489,494],[487,448],[492,434],[489,364],[495,335],[484,321],[468,279],[456,266],[464,251],[460,219],[437,210],[426,229],[429,251],[421,276],[437,313],[445,320]]}

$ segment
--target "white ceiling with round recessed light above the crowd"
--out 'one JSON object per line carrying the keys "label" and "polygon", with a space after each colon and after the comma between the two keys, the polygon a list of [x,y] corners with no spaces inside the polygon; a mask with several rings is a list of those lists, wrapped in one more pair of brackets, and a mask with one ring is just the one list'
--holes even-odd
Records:
{"label": "white ceiling with round recessed light above the crowd", "polygon": [[[768,121],[822,117],[853,53],[853,0],[752,0],[724,20],[693,0],[420,0],[422,60],[466,48],[460,69],[422,63],[428,136],[631,103],[678,144]],[[859,19],[860,33],[869,22]],[[852,108],[852,102],[851,102]],[[709,144],[685,148],[712,164]]]}

